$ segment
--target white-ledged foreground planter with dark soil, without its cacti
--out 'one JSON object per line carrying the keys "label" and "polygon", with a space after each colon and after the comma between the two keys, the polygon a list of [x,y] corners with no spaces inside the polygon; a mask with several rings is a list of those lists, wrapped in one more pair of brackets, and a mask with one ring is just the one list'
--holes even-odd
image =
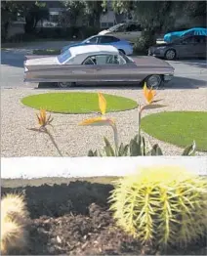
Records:
{"label": "white-ledged foreground planter with dark soil, without its cacti", "polygon": [[[174,165],[207,174],[206,157],[2,158],[1,194],[23,193],[30,216],[28,237],[24,237],[29,246],[21,248],[23,253],[8,254],[206,255],[206,237],[186,248],[176,246],[163,253],[151,247],[143,252],[139,239],[116,225],[108,210],[113,187],[99,179],[113,180],[150,165]],[[99,179],[90,180],[95,176]],[[75,177],[85,180],[71,181]]]}

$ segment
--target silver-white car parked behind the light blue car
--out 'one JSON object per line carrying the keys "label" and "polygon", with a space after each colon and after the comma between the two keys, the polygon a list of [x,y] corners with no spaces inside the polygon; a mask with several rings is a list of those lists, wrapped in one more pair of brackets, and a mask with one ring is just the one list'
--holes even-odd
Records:
{"label": "silver-white car parked behind the light blue car", "polygon": [[128,41],[135,41],[142,34],[141,24],[136,22],[118,23],[99,32],[99,35],[113,35]]}

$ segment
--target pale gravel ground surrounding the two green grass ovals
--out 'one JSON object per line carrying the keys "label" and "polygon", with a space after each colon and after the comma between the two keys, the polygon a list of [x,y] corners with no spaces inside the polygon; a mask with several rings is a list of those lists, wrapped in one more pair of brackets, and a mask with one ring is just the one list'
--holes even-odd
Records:
{"label": "pale gravel ground surrounding the two green grass ovals", "polygon": [[[143,90],[141,88],[96,88],[96,89],[74,89],[71,91],[81,92],[103,92],[124,96],[144,104]],[[1,90],[1,155],[3,157],[17,156],[60,156],[49,138],[45,135],[34,133],[26,128],[37,125],[34,110],[21,104],[21,98],[42,94],[47,92],[70,92],[70,90],[35,90],[35,89],[3,89]],[[146,114],[159,111],[192,110],[206,111],[207,88],[199,89],[166,89],[157,91],[156,99],[163,99],[162,104],[167,106],[151,109]],[[103,149],[103,136],[113,141],[110,127],[81,127],[78,123],[85,118],[96,116],[96,114],[57,114],[54,117],[52,133],[55,134],[56,142],[64,156],[86,156],[89,149]],[[107,116],[116,120],[120,142],[127,144],[137,134],[138,110],[131,109],[115,113],[107,113]],[[184,149],[168,143],[161,142],[145,134],[150,144],[158,143],[165,155],[181,155]],[[207,155],[207,152],[197,151],[196,155]]]}

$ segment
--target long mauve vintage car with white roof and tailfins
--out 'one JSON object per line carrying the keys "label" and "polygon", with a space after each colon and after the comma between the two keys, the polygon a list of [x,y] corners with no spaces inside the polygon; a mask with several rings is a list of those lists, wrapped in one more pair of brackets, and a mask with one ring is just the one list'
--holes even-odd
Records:
{"label": "long mauve vintage car with white roof and tailfins", "polygon": [[159,87],[172,79],[174,68],[154,57],[130,57],[113,46],[71,47],[59,56],[27,56],[25,82],[52,82],[66,88],[84,82],[146,82]]}

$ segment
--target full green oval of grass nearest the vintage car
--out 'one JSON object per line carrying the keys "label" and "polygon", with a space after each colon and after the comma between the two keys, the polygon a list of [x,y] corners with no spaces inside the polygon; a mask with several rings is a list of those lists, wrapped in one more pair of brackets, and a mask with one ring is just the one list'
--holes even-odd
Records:
{"label": "full green oval of grass nearest the vintage car", "polygon": [[[137,107],[131,99],[104,94],[107,112],[123,111]],[[100,112],[97,93],[46,93],[31,95],[21,100],[25,106],[59,113],[90,113]]]}

